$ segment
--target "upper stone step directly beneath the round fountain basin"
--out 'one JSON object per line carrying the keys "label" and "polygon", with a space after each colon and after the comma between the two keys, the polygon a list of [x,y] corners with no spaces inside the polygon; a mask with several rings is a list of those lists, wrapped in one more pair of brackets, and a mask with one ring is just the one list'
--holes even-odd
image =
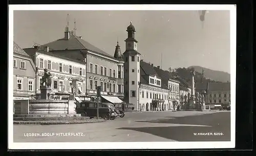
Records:
{"label": "upper stone step directly beneath the round fountain basin", "polygon": [[52,118],[52,117],[81,117],[81,114],[14,114],[14,118],[29,118],[29,117],[38,117],[38,118]]}

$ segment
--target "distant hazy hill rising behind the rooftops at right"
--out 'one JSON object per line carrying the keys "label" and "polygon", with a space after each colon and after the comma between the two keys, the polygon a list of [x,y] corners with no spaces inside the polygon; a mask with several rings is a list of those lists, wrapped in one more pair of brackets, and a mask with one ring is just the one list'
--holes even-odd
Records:
{"label": "distant hazy hill rising behind the rooftops at right", "polygon": [[202,70],[204,70],[204,77],[206,79],[219,82],[230,82],[230,74],[226,72],[210,70],[203,68],[202,66],[189,66],[187,69],[195,69],[195,71],[200,74],[202,74]]}

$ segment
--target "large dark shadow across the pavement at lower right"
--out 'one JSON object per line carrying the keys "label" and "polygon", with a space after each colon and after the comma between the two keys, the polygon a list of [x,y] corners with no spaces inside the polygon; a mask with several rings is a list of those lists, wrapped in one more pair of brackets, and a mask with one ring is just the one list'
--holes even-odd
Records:
{"label": "large dark shadow across the pavement at lower right", "polygon": [[[166,119],[167,118],[167,119]],[[150,120],[137,122],[166,123],[166,124],[191,124],[191,126],[169,126],[169,127],[122,127],[118,129],[136,130],[150,133],[176,141],[230,141],[230,112],[194,115],[186,117],[166,117],[164,120]],[[172,118],[169,119],[168,118]],[[174,119],[175,118],[175,119]],[[192,126],[207,125],[210,127]],[[142,125],[143,126],[143,125]],[[209,134],[208,134],[209,132]],[[211,132],[211,134],[210,134]],[[194,135],[197,133],[197,135]],[[207,135],[200,135],[207,133]],[[222,135],[220,135],[222,133]],[[152,140],[154,142],[154,140]]]}

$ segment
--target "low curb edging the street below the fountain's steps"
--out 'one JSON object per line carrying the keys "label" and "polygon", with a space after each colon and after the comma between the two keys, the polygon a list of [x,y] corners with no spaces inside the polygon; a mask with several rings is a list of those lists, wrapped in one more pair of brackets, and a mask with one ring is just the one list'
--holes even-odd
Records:
{"label": "low curb edging the street below the fountain's steps", "polygon": [[82,123],[97,123],[105,122],[106,120],[83,120],[83,121],[13,121],[13,124],[18,125],[60,125],[60,124],[82,124]]}

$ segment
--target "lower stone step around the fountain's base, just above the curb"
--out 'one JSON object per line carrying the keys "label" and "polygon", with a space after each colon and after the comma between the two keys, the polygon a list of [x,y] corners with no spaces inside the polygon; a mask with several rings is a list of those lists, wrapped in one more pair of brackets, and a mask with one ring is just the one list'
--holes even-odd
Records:
{"label": "lower stone step around the fountain's base, just above the curb", "polygon": [[13,121],[81,121],[90,117],[14,117]]}

